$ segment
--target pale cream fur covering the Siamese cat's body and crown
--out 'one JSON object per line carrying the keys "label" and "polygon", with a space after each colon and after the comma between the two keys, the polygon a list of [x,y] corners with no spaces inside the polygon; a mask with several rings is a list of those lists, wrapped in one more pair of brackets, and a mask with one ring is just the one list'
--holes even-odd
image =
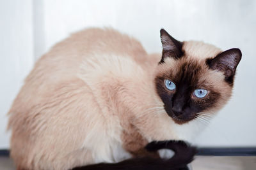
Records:
{"label": "pale cream fur covering the Siamese cat's body and crown", "polygon": [[[194,45],[207,50],[195,52]],[[197,58],[220,52],[204,43],[185,47]],[[148,142],[189,139],[199,132],[197,120],[177,125],[164,112],[154,87],[155,75],[168,70],[157,69],[160,59],[112,29],[86,29],[54,46],[36,62],[9,112],[17,169],[127,159],[132,155],[122,134],[130,133],[129,125]]]}

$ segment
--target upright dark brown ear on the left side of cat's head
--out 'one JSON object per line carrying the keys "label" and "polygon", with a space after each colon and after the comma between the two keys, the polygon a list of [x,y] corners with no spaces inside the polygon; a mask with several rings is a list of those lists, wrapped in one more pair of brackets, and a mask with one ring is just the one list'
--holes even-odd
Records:
{"label": "upright dark brown ear on the left side of cat's head", "polygon": [[179,59],[179,57],[183,55],[182,42],[170,36],[170,34],[168,34],[164,29],[161,29],[160,34],[163,45],[163,54],[160,63],[164,62],[165,57],[174,57],[175,59]]}

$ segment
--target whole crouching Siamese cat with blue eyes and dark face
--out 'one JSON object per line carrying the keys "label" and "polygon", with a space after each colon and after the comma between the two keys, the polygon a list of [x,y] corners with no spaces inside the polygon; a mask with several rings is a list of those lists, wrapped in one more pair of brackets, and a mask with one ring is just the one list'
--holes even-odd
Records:
{"label": "whole crouching Siamese cat with blue eyes and dark face", "polygon": [[17,169],[186,169],[195,148],[169,140],[193,138],[227,103],[241,51],[164,29],[161,42],[162,57],[86,29],[43,55],[9,111]]}

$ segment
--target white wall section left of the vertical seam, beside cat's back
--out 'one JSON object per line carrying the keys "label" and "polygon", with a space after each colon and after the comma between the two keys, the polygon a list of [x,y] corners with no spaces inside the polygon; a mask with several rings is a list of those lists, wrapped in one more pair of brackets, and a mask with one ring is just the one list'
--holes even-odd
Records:
{"label": "white wall section left of the vertical seam, beside cat's back", "polygon": [[35,59],[31,2],[0,1],[0,149],[9,146],[6,113]]}

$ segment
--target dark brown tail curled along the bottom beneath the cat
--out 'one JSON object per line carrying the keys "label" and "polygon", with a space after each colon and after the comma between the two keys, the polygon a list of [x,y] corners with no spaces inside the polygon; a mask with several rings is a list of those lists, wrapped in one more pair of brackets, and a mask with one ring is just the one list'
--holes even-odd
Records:
{"label": "dark brown tail curled along the bottom beneath the cat", "polygon": [[196,148],[187,145],[182,141],[161,141],[152,142],[146,146],[146,149],[150,152],[157,151],[159,149],[171,149],[175,152],[175,155],[171,159],[161,158],[136,158],[124,160],[116,164],[94,164],[84,167],[76,167],[73,170],[100,170],[100,169],[123,169],[123,170],[139,170],[139,169],[163,169],[163,170],[188,170],[187,164],[193,160],[196,153]]}

